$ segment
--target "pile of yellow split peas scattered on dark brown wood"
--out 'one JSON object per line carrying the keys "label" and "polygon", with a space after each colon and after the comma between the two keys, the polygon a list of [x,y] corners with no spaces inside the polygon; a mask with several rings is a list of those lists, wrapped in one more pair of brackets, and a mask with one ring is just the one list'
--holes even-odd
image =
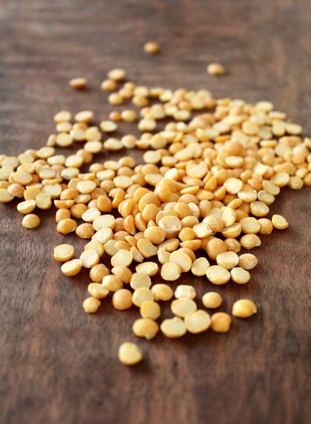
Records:
{"label": "pile of yellow split peas scattered on dark brown wood", "polygon": [[[54,248],[65,275],[89,269],[87,313],[111,294],[114,308],[139,309],[138,337],[152,339],[160,330],[176,338],[209,327],[227,332],[231,316],[257,312],[252,300],[210,316],[207,310],[222,303],[219,293],[205,293],[207,310],[198,310],[195,287],[181,283],[173,291],[170,282],[182,282],[187,272],[215,285],[249,282],[257,259],[239,252],[288,227],[285,217],[269,217],[269,205],[284,186],[311,185],[311,139],[267,101],[215,99],[207,89],[148,88],[125,79],[124,70],[113,69],[102,82],[113,110],[98,125],[91,110],[62,110],[44,147],[0,155],[0,201],[20,199],[17,210],[29,229],[40,224],[36,210],[54,205],[56,230],[87,241],[79,257],[69,244]],[[81,89],[87,81],[69,84]],[[114,137],[122,122],[140,136]],[[56,153],[70,145],[78,146],[75,154]],[[133,148],[144,149],[143,163],[124,155]],[[122,157],[94,162],[103,150]],[[109,264],[101,262],[104,252]],[[153,279],[158,272],[166,283]],[[163,301],[171,302],[172,318],[159,324]],[[142,353],[125,342],[119,358],[136,364]]]}

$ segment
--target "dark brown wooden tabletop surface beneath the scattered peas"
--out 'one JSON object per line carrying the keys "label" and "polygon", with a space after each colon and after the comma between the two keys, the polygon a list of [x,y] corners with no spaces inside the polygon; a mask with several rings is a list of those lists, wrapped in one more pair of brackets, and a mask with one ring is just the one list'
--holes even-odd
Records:
{"label": "dark brown wooden tabletop surface beneath the scattered peas", "polygon": [[[310,21],[309,0],[1,0],[0,153],[44,145],[60,109],[107,117],[99,85],[113,67],[140,85],[272,101],[310,135]],[[149,40],[159,55],[143,53]],[[207,75],[211,61],[227,75]],[[80,75],[89,88],[77,92],[68,81]],[[1,423],[311,422],[310,187],[284,189],[272,205],[290,227],[263,237],[251,282],[216,287],[221,310],[249,297],[256,316],[234,319],[225,335],[149,342],[131,332],[134,309],[107,301],[96,315],[83,312],[88,274],[67,278],[53,260],[65,240],[54,213],[27,231],[16,204],[0,205]],[[83,249],[73,235],[66,241]],[[182,282],[199,295],[214,288]],[[124,340],[144,353],[137,367],[117,359]]]}

